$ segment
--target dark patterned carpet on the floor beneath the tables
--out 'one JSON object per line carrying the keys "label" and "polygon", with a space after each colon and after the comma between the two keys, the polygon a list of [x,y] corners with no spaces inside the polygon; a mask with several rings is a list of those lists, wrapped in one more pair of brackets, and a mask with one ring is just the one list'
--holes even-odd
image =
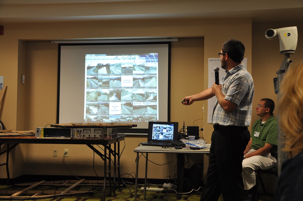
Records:
{"label": "dark patterned carpet on the floor beneath the tables", "polygon": [[[138,186],[138,189],[141,189],[141,186]],[[150,186],[150,187],[155,187],[155,188],[160,188],[162,186]],[[6,190],[22,190],[27,188],[27,186],[0,186],[0,200],[14,200],[14,199],[4,199],[3,196],[11,196],[12,194],[5,194],[4,192],[6,192]],[[41,187],[41,186],[37,186],[35,187],[35,190],[44,190],[49,191],[49,190],[65,190],[67,189],[67,187]],[[164,190],[167,188],[164,188]],[[40,201],[97,201],[97,200],[103,200],[103,186],[100,187],[77,187],[73,190],[77,190],[77,191],[88,191],[88,193],[85,193],[85,195],[74,195],[74,196],[66,196],[66,197],[52,197],[52,198],[42,198],[42,199],[38,199]],[[129,184],[129,185],[125,185],[123,187],[121,187],[121,189],[116,189],[116,193],[113,194],[112,196],[109,196],[109,190],[108,188],[106,188],[105,193],[106,193],[106,201],[133,201],[134,200],[134,192],[135,192],[135,185],[133,184]],[[55,193],[53,193],[55,194]],[[177,194],[175,193],[161,193],[160,191],[147,191],[146,192],[146,200],[188,200],[188,201],[199,201],[200,197],[201,197],[201,192],[197,191],[195,192],[195,194],[180,194],[177,197]],[[18,196],[32,196],[28,195],[28,194],[21,194]],[[144,192],[138,192],[137,194],[137,198],[138,200],[144,200]],[[28,200],[28,198],[25,197],[18,197],[18,199],[16,200]],[[33,199],[32,199],[33,200]],[[274,196],[273,195],[269,195],[269,196],[265,196],[265,195],[260,195],[260,200],[261,201],[273,201],[274,200]],[[218,201],[223,201],[222,196],[220,196],[220,198],[218,199]]]}

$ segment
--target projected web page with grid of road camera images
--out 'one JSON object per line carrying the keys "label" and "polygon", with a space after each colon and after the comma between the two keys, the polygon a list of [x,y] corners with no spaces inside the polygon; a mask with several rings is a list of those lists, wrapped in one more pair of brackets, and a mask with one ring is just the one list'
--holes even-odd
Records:
{"label": "projected web page with grid of road camera images", "polygon": [[158,53],[85,55],[85,122],[158,120]]}

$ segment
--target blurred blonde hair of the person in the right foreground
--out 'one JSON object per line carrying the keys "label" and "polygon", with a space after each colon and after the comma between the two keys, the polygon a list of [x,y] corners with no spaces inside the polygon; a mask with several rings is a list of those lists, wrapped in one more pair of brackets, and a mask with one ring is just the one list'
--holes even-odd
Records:
{"label": "blurred blonde hair of the person in the right foreground", "polygon": [[284,151],[290,157],[303,151],[303,63],[290,68],[281,83],[279,124],[286,134]]}

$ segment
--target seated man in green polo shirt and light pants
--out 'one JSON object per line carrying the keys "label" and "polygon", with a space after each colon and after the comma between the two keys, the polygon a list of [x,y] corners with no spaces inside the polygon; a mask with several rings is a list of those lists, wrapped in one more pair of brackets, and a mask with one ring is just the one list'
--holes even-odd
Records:
{"label": "seated man in green polo shirt and light pants", "polygon": [[261,99],[256,107],[261,118],[252,127],[242,162],[245,201],[255,200],[255,170],[267,170],[277,164],[278,120],[272,113],[274,109],[275,103],[269,98]]}

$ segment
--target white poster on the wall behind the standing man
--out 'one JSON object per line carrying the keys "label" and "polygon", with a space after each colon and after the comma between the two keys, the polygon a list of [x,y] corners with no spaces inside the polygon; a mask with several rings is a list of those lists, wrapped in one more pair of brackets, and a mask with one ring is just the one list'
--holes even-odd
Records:
{"label": "white poster on the wall behind the standing man", "polygon": [[[244,58],[242,61],[244,64],[244,68],[247,69],[247,58]],[[219,67],[219,81],[226,75],[225,70],[221,68],[221,58],[208,58],[208,88],[212,86],[215,82],[215,71],[214,68]],[[215,107],[217,98],[216,96],[208,99],[208,107],[207,107],[207,123],[212,124],[211,116],[213,109]]]}

